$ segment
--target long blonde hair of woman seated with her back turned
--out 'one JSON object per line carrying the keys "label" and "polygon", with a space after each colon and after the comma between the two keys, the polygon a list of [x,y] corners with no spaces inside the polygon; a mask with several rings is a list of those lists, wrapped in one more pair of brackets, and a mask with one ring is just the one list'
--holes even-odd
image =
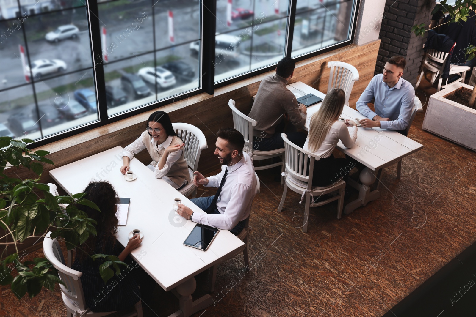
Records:
{"label": "long blonde hair of woman seated with her back turned", "polygon": [[339,119],[346,102],[346,93],[340,88],[327,92],[319,110],[311,116],[307,146],[316,152],[326,138],[331,125]]}

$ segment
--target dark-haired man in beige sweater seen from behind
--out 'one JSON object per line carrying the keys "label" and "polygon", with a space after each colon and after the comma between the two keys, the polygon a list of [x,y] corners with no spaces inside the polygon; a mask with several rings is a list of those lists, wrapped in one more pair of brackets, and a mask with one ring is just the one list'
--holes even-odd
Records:
{"label": "dark-haired man in beige sweater seen from behind", "polygon": [[[294,125],[295,131],[306,123],[306,106],[298,104],[296,96],[286,88],[293,77],[294,66],[292,58],[281,59],[276,67],[276,75],[265,77],[259,85],[255,102],[248,115],[258,122],[254,129],[255,150],[271,151],[284,147],[281,132],[286,123],[285,117]],[[301,147],[304,145],[306,134],[287,134],[291,142]]]}

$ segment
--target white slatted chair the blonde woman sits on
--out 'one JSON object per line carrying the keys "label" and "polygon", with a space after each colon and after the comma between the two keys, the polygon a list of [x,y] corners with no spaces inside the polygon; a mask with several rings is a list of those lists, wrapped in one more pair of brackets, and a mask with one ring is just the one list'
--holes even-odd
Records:
{"label": "white slatted chair the blonde woman sits on", "polygon": [[[342,217],[342,207],[344,206],[344,190],[346,188],[346,182],[338,180],[333,184],[329,184],[326,187],[312,186],[312,177],[314,172],[314,162],[319,160],[319,156],[314,155],[304,149],[298,147],[296,144],[290,142],[286,134],[281,134],[284,140],[285,148],[285,165],[286,172],[284,173],[284,191],[279,203],[278,211],[281,212],[286,199],[286,193],[288,187],[299,194],[302,197],[306,196],[306,206],[304,210],[304,223],[302,231],[307,232],[307,222],[309,220],[309,207],[319,207],[329,202],[339,200],[337,204],[337,219]],[[309,167],[308,176],[306,175],[307,167]],[[326,199],[322,202],[311,203],[311,196],[317,198],[321,195],[325,195],[331,192],[337,192],[338,194],[332,198]],[[301,198],[302,201],[302,198]]]}

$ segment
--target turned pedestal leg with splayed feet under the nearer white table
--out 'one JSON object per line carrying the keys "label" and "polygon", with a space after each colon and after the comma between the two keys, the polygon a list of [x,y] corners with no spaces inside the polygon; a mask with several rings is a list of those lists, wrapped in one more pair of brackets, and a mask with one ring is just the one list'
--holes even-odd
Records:
{"label": "turned pedestal leg with splayed feet under the nearer white table", "polygon": [[191,278],[172,290],[172,293],[178,297],[180,310],[169,315],[169,317],[189,317],[198,310],[205,309],[213,304],[213,298],[208,294],[193,300],[192,293],[196,288],[197,282],[195,278]]}

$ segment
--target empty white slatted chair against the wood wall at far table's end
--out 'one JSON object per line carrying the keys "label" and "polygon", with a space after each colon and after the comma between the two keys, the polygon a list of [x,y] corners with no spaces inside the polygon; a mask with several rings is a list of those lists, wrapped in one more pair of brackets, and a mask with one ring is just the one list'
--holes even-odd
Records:
{"label": "empty white slatted chair against the wood wall at far table's end", "polygon": [[330,68],[329,85],[327,92],[333,88],[340,88],[346,93],[345,105],[349,105],[349,97],[352,92],[354,82],[358,80],[358,70],[350,64],[344,62],[328,62]]}

